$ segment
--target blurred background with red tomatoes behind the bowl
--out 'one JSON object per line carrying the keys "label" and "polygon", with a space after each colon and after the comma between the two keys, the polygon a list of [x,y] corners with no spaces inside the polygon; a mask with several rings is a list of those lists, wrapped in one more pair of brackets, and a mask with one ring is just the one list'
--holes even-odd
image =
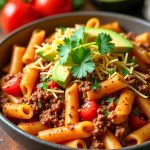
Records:
{"label": "blurred background with red tomatoes behind the bowl", "polygon": [[39,18],[90,10],[124,13],[150,21],[150,0],[0,0],[0,38]]}

